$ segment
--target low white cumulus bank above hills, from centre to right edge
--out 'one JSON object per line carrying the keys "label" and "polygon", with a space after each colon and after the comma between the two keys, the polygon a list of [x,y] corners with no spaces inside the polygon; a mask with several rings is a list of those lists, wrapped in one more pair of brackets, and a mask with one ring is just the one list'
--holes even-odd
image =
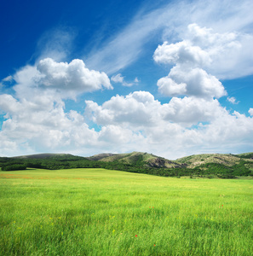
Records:
{"label": "low white cumulus bank above hills, from centre to right edge", "polygon": [[135,91],[113,96],[102,105],[93,101],[86,104],[86,116],[95,124],[103,129],[121,127],[128,134],[118,139],[129,150],[148,148],[176,158],[193,152],[227,152],[227,148],[250,146],[252,141],[253,119],[229,113],[217,99],[173,97],[162,104],[147,91]]}

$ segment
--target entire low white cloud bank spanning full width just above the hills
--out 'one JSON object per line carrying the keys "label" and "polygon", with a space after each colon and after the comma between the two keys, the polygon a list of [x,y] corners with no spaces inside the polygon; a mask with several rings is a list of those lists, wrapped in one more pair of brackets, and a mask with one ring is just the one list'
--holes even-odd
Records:
{"label": "entire low white cloud bank spanning full width just above the hills", "polygon": [[[174,97],[161,104],[151,93],[135,91],[114,96],[101,106],[86,103],[83,116],[66,111],[60,99],[55,101],[46,92],[29,100],[1,95],[6,120],[0,131],[0,154],[140,150],[175,159],[206,151],[234,152],[253,141],[253,118],[231,114],[215,99]],[[251,108],[249,113],[253,114]],[[100,131],[86,124],[88,117],[101,126]]]}

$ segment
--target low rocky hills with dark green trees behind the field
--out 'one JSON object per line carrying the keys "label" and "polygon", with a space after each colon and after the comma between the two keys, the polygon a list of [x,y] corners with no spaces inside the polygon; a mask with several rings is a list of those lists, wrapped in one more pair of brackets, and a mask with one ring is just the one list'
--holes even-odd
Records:
{"label": "low rocky hills with dark green trees behind the field", "polygon": [[16,158],[0,158],[3,171],[27,168],[49,170],[73,168],[105,168],[124,172],[145,173],[163,177],[253,176],[252,154],[198,154],[171,161],[153,154],[98,154],[89,158],[72,154],[37,154]]}

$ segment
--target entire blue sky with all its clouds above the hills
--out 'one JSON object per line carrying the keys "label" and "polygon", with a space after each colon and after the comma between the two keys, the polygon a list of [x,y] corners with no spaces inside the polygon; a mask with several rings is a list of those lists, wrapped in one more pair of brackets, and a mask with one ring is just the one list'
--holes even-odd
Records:
{"label": "entire blue sky with all its clouds above the hills", "polygon": [[0,156],[253,151],[253,2],[0,3]]}

